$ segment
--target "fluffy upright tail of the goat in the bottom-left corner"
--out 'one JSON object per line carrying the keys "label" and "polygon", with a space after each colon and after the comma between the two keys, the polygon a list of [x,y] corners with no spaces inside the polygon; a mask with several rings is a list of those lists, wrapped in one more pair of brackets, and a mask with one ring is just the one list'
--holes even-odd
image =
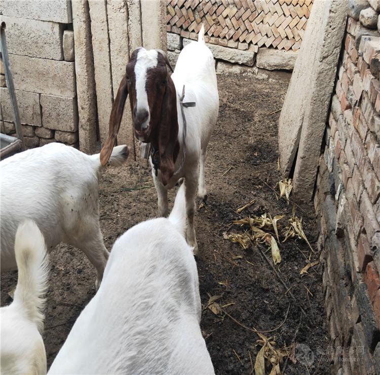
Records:
{"label": "fluffy upright tail of the goat in the bottom-left corner", "polygon": [[44,236],[34,221],[25,220],[17,229],[15,255],[18,281],[14,303],[28,319],[44,329],[44,294],[48,288],[48,254]]}

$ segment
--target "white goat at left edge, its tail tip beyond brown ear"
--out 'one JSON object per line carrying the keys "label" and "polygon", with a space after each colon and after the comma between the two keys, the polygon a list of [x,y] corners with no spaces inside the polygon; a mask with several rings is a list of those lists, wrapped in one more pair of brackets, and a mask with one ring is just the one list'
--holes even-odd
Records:
{"label": "white goat at left edge, its tail tip beyond brown ear", "polygon": [[[109,165],[128,158],[125,145],[113,148]],[[14,238],[29,218],[45,237],[48,251],[60,242],[81,249],[101,281],[108,259],[99,226],[99,154],[86,155],[61,143],[29,149],[0,162],[1,270],[16,269]]]}

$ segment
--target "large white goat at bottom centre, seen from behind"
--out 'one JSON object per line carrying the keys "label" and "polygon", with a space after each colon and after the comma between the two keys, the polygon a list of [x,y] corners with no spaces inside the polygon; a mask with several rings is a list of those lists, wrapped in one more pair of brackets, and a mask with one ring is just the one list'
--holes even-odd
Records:
{"label": "large white goat at bottom centre, seen from behind", "polygon": [[139,223],[115,242],[99,290],[49,373],[214,373],[184,230],[182,185],[169,218]]}

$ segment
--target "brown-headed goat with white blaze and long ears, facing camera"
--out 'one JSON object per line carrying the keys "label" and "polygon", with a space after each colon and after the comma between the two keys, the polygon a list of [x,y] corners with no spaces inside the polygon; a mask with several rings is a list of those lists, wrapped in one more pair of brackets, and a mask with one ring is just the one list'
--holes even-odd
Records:
{"label": "brown-headed goat with white blaze and long ears, facing camera", "polygon": [[[150,163],[158,194],[159,215],[168,214],[168,189],[185,178],[187,233],[186,239],[198,253],[194,229],[195,196],[206,200],[205,161],[207,145],[215,128],[219,95],[215,63],[205,44],[204,27],[198,42],[188,44],[179,54],[172,76],[166,54],[160,50],[139,48],[131,56],[118,95],[112,105],[109,136],[100,153],[104,165],[116,141],[127,95],[136,137],[150,143]],[[195,107],[183,108],[183,102]],[[185,134],[185,137],[184,137]]]}

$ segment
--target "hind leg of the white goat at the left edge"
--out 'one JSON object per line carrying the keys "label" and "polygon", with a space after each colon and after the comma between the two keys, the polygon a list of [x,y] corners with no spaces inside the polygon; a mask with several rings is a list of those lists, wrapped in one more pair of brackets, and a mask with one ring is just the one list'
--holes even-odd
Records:
{"label": "hind leg of the white goat at the left edge", "polygon": [[97,278],[95,286],[96,289],[98,289],[109,256],[109,252],[104,246],[103,236],[99,226],[97,226],[96,229],[88,228],[86,239],[82,241],[80,245],[77,245],[77,247],[86,254],[92,265],[96,268]]}

